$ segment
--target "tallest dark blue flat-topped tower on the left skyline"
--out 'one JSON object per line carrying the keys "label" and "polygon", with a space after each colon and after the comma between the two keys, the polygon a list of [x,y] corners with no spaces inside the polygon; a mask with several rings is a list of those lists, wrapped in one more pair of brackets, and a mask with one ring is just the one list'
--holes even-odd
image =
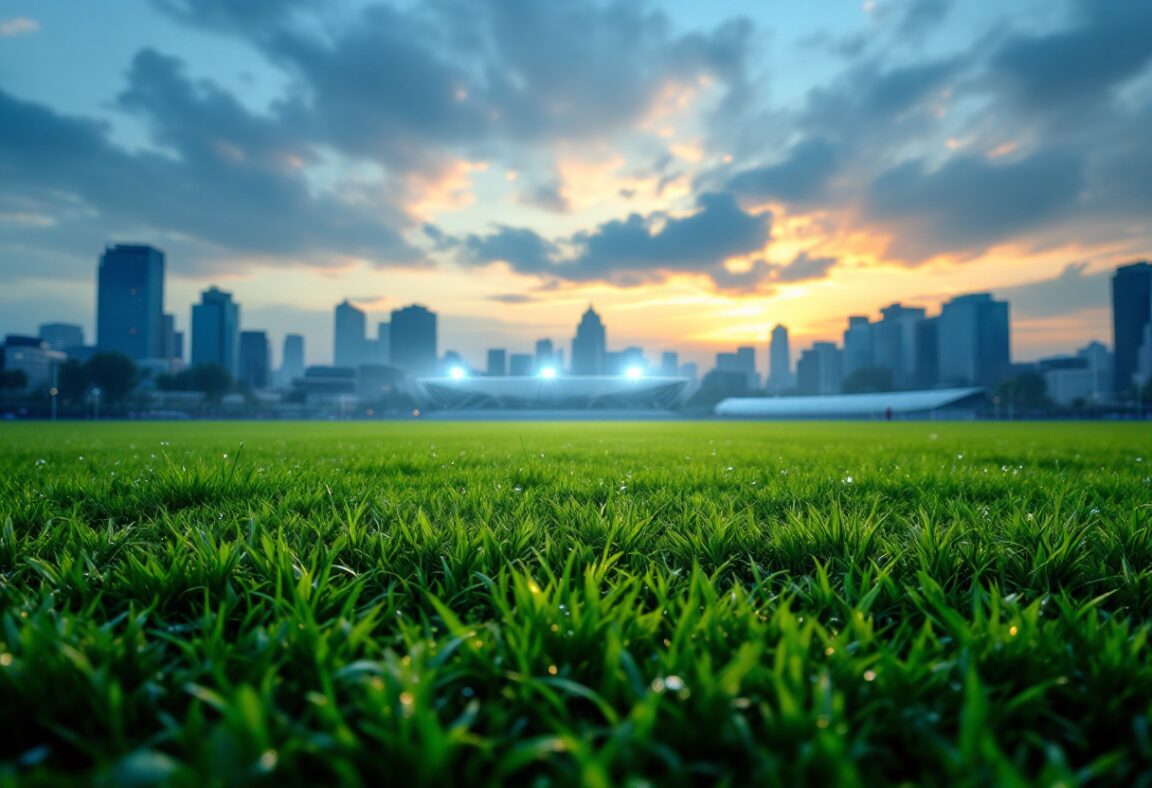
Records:
{"label": "tallest dark blue flat-topped tower on the left skyline", "polygon": [[164,252],[106,247],[97,274],[96,343],[135,359],[164,357]]}

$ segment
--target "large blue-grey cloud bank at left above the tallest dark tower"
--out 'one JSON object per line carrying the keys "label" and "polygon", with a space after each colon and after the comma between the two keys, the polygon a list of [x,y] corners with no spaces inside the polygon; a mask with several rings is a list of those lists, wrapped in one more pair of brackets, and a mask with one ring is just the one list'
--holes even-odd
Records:
{"label": "large blue-grey cloud bank at left above the tallest dark tower", "polygon": [[0,197],[54,217],[58,226],[44,236],[67,235],[94,213],[98,243],[120,234],[191,242],[207,257],[422,260],[401,235],[400,211],[313,191],[293,165],[308,151],[291,135],[213,85],[191,83],[179,61],[141,53],[120,103],[141,114],[167,153],[129,152],[99,123],[0,91]]}

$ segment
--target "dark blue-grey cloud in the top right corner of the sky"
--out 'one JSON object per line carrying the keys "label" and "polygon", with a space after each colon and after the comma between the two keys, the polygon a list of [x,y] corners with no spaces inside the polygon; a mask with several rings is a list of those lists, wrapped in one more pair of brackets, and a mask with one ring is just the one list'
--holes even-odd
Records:
{"label": "dark blue-grey cloud in the top right corner of the sky", "polygon": [[992,54],[990,77],[1023,112],[1085,108],[1152,61],[1152,3],[1078,0],[1078,24],[1048,35],[1016,33]]}

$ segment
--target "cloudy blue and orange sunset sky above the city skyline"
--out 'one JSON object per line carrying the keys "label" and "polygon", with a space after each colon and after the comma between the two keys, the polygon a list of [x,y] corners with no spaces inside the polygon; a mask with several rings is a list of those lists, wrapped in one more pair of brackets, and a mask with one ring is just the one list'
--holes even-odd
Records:
{"label": "cloudy blue and orange sunset sky above the city skyline", "polygon": [[1147,0],[0,0],[0,334],[94,329],[106,243],[332,357],[713,354],[1010,300],[1013,355],[1111,342],[1152,256]]}

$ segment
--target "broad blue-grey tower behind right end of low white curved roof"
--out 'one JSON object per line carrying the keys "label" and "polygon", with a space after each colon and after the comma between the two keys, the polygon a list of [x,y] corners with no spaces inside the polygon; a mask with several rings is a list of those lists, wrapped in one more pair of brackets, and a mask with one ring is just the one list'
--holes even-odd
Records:
{"label": "broad blue-grey tower behind right end of low white curved roof", "polygon": [[994,386],[1011,363],[1008,302],[987,293],[956,296],[940,308],[937,347],[940,382]]}

